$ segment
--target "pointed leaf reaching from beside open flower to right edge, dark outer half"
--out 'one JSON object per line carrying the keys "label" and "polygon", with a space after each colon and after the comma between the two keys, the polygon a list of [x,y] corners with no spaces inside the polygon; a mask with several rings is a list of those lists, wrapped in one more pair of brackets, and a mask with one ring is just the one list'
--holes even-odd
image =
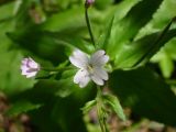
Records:
{"label": "pointed leaf reaching from beside open flower to right edge, dark outer half", "polygon": [[[173,22],[173,21],[172,21]],[[170,23],[163,32],[153,33],[132,43],[124,44],[116,56],[117,68],[131,68],[145,64],[170,38],[176,36],[176,30],[169,30]]]}

